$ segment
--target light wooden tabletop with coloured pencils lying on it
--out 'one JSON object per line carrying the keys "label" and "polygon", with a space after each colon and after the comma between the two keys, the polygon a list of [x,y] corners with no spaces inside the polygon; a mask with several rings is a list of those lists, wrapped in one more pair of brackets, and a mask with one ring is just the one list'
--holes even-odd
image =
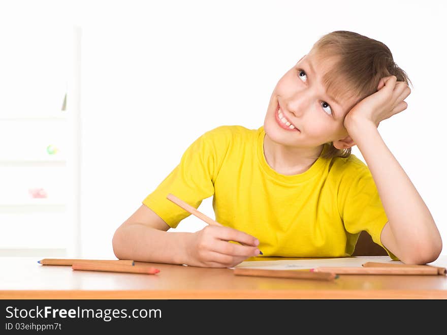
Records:
{"label": "light wooden tabletop with coloured pencils lying on it", "polygon": [[[0,257],[0,299],[447,299],[447,276],[340,275],[331,282],[161,263],[145,263],[160,272],[143,275],[40,265],[42,258]],[[284,260],[260,260],[277,259]],[[447,267],[447,256],[430,265]]]}

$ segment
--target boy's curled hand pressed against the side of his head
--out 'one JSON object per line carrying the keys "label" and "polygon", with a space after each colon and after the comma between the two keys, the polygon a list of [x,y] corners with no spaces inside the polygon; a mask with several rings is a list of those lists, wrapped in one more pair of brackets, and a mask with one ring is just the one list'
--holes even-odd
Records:
{"label": "boy's curled hand pressed against the side of his head", "polygon": [[344,118],[344,127],[349,133],[349,127],[355,123],[369,121],[378,127],[380,121],[407,108],[404,101],[411,89],[403,81],[397,81],[396,76],[381,78],[377,92],[364,98],[355,105]]}

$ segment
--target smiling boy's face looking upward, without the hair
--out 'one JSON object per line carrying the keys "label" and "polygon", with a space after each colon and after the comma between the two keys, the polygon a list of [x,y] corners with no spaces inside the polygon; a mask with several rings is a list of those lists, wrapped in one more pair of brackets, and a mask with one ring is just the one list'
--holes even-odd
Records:
{"label": "smiling boy's face looking upward, without the hair", "polygon": [[[334,142],[337,148],[355,145],[343,121],[356,97],[337,103],[322,83],[333,64],[333,60],[318,58],[311,51],[279,79],[264,120],[264,130],[273,141],[300,148],[316,148],[328,142]],[[279,124],[281,117],[285,117],[285,125]]]}

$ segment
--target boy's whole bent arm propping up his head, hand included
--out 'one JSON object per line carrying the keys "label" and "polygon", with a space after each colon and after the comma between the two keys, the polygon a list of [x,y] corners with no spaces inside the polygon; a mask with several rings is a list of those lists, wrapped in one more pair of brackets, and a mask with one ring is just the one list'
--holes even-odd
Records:
{"label": "boy's whole bent arm propping up his head, hand included", "polygon": [[441,252],[439,231],[424,200],[377,130],[381,120],[406,108],[403,99],[409,92],[397,89],[396,77],[392,77],[379,84],[379,89],[385,86],[383,91],[349,111],[344,126],[368,165],[389,220],[381,232],[382,244],[404,263],[426,264]]}

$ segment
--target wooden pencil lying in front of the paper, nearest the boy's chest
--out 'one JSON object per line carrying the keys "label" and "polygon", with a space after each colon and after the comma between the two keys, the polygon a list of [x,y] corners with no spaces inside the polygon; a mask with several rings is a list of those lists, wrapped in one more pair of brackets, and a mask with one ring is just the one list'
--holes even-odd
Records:
{"label": "wooden pencil lying in front of the paper, nearest the boy's chest", "polygon": [[294,278],[294,279],[315,279],[315,280],[334,280],[338,276],[330,272],[310,272],[302,270],[268,270],[253,269],[245,267],[236,267],[233,270],[236,276],[254,276],[254,277],[275,277],[275,278]]}

